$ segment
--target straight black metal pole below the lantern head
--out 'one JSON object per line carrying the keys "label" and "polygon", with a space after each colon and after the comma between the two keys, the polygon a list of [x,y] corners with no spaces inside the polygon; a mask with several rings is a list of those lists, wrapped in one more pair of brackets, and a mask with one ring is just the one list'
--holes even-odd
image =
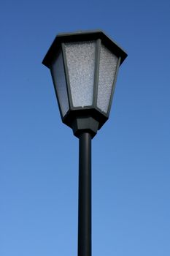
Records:
{"label": "straight black metal pole below the lantern head", "polygon": [[91,256],[91,135],[79,140],[78,256]]}

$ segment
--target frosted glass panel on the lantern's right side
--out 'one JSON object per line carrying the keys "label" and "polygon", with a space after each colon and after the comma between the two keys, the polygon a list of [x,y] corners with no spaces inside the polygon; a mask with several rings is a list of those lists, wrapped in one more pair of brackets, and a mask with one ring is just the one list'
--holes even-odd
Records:
{"label": "frosted glass panel on the lantern's right side", "polygon": [[101,45],[97,107],[104,113],[107,113],[109,107],[117,61],[117,56],[115,56],[104,45]]}

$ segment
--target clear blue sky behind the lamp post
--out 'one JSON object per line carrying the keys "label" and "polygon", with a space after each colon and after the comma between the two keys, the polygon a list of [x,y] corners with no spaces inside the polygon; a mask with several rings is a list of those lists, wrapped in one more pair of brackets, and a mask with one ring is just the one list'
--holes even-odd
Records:
{"label": "clear blue sky behind the lamp post", "polygon": [[80,29],[128,53],[93,139],[93,255],[170,255],[169,27],[169,0],[1,1],[1,256],[77,255],[78,140],[41,61]]}

